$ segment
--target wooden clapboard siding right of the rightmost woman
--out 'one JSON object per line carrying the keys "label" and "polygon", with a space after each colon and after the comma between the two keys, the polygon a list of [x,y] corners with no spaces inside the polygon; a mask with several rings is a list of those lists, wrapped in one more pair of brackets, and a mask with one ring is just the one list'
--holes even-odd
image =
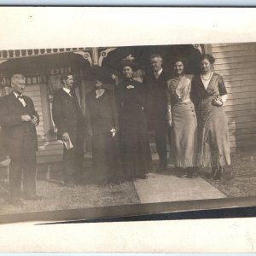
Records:
{"label": "wooden clapboard siding right of the rightmost woman", "polygon": [[256,44],[212,44],[214,69],[229,93],[225,111],[232,148],[256,144]]}

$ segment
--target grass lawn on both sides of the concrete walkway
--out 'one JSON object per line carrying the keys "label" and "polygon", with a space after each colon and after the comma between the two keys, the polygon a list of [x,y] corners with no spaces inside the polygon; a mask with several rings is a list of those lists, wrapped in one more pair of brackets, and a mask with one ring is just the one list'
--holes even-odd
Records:
{"label": "grass lawn on both sides of the concrete walkway", "polygon": [[[210,169],[202,170],[201,177],[227,197],[256,196],[256,147],[237,150],[231,154],[231,161],[232,165],[226,168],[221,180],[209,179]],[[86,170],[90,166],[91,163],[87,160]],[[0,178],[0,215],[140,203],[137,191],[131,182],[119,185],[108,184],[103,187],[85,182],[75,188],[67,188],[62,185],[60,180],[61,177],[53,175],[51,179],[38,180],[38,195],[43,196],[43,200],[25,201],[26,206],[19,208],[8,203],[8,185],[4,183],[3,178]]]}

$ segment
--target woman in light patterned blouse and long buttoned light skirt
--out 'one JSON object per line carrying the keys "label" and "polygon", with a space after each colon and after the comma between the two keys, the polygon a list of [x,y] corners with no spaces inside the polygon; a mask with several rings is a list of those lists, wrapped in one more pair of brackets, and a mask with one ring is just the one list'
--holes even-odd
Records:
{"label": "woman in light patterned blouse and long buttoned light skirt", "polygon": [[177,58],[176,75],[167,81],[167,119],[172,126],[169,163],[177,167],[180,177],[197,177],[197,120],[190,99],[193,75],[184,73],[186,62]]}

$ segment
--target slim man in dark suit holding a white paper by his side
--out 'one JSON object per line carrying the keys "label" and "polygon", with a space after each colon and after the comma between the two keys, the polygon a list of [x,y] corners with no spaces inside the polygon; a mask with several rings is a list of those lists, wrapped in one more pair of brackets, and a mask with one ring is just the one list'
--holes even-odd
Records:
{"label": "slim man in dark suit holding a white paper by his side", "polygon": [[53,98],[52,116],[63,142],[63,171],[67,187],[74,187],[83,174],[84,116],[73,90],[73,76],[61,75],[63,87]]}

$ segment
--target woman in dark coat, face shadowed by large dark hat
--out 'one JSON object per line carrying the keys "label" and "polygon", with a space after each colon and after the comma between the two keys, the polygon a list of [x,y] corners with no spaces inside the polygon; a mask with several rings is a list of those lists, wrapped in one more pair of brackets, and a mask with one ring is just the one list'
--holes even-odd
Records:
{"label": "woman in dark coat, face shadowed by large dark hat", "polygon": [[120,183],[121,169],[116,132],[119,126],[111,74],[102,67],[94,70],[95,90],[86,95],[87,124],[92,137],[93,180]]}

